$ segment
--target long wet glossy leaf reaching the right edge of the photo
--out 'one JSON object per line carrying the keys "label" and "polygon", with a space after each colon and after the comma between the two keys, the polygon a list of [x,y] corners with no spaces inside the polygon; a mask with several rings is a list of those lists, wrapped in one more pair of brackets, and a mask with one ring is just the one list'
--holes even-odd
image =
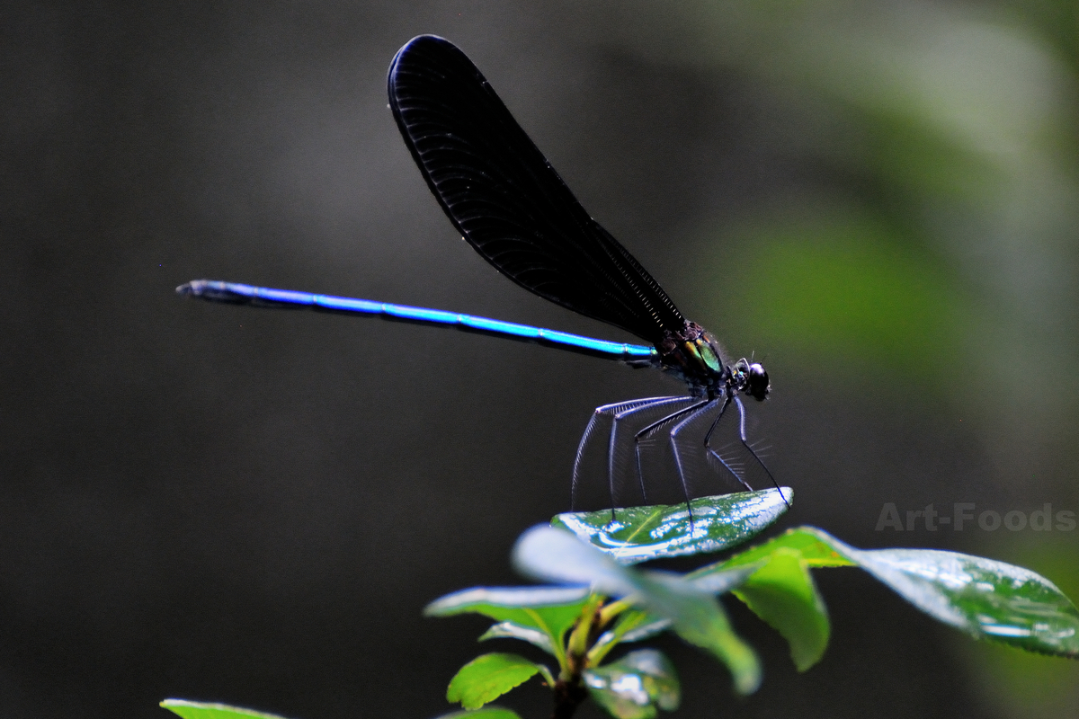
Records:
{"label": "long wet glossy leaf reaching the right edge of the photo", "polygon": [[1029,569],[940,550],[857,550],[806,529],[945,624],[1027,651],[1079,656],[1079,610]]}

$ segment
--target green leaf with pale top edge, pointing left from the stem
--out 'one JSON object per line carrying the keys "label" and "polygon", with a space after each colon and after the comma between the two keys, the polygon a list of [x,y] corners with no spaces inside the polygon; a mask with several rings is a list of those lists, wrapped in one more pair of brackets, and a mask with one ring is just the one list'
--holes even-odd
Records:
{"label": "green leaf with pale top edge, pointing left from the stem", "polygon": [[[562,638],[577,621],[587,597],[587,587],[479,586],[436,599],[427,605],[423,613],[427,617],[476,613],[498,622],[510,622],[518,627],[536,630],[545,634],[549,641],[541,645],[523,635],[517,638],[549,651],[559,660],[559,665],[562,665]],[[484,634],[481,640],[492,636]],[[535,638],[534,635],[530,636]]]}

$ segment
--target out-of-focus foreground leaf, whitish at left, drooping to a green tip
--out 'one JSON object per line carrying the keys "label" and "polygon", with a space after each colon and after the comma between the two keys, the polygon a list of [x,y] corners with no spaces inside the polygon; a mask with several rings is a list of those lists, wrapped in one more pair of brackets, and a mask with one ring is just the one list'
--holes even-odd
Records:
{"label": "out-of-focus foreground leaf, whitish at left, drooping to a green tip", "polygon": [[715,597],[677,575],[625,567],[568,531],[542,526],[521,535],[514,565],[535,579],[587,584],[668,619],[679,636],[727,665],[736,691],[750,693],[760,685],[756,655],[735,635]]}

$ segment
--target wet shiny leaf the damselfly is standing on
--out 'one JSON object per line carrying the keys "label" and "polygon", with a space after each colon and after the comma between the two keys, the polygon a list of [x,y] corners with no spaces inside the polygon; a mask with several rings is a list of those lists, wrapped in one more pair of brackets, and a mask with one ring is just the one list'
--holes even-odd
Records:
{"label": "wet shiny leaf the damselfly is standing on", "polygon": [[[790,487],[700,497],[682,504],[654,504],[568,512],[551,525],[569,529],[607,552],[619,564],[668,556],[719,552],[753,537],[787,511]],[[787,499],[784,502],[783,499]]]}

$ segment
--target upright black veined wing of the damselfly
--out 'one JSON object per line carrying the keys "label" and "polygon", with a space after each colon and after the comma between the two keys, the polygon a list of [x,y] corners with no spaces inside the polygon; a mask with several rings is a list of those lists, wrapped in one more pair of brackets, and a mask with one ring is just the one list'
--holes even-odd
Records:
{"label": "upright black veined wing of the damselfly", "polygon": [[663,288],[589,217],[455,45],[413,38],[388,84],[427,185],[483,259],[524,289],[653,344],[683,329]]}

